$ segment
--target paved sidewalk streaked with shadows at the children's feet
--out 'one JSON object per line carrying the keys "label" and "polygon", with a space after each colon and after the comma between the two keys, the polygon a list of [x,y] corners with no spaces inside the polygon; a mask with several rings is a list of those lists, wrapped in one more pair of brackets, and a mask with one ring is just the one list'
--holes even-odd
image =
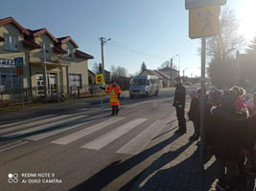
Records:
{"label": "paved sidewalk streaked with shadows at the children's feet", "polygon": [[[174,124],[175,123],[175,124]],[[171,123],[175,126],[176,121]],[[142,174],[132,190],[145,191],[215,191],[217,168],[212,157],[205,164],[205,188],[201,189],[199,150],[197,142],[189,141],[193,134],[192,122],[187,123],[187,134],[173,134],[174,141],[163,149],[160,157]]]}

